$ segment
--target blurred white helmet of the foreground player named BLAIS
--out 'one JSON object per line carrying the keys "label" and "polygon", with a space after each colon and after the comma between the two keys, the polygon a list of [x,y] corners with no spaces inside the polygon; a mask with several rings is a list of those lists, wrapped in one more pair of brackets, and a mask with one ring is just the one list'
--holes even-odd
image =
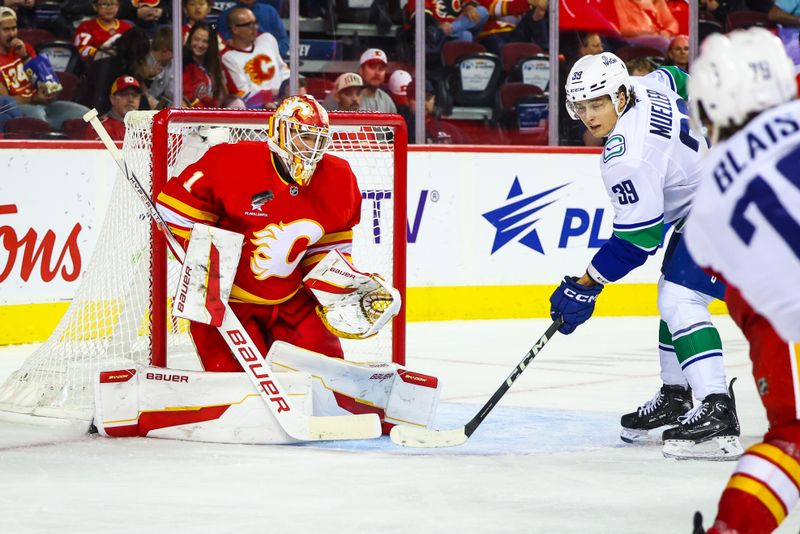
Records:
{"label": "blurred white helmet of the foreground player named BLAIS", "polygon": [[794,65],[781,40],[764,28],[709,35],[691,68],[688,83],[693,126],[702,130],[701,110],[719,129],[797,96]]}

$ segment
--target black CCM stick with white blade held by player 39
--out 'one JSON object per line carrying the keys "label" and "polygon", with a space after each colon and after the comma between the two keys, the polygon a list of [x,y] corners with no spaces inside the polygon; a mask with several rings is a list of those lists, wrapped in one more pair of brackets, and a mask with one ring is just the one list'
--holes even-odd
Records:
{"label": "black CCM stick with white blade held by player 39", "polygon": [[403,445],[405,447],[424,447],[424,448],[435,448],[435,447],[455,447],[456,445],[463,445],[469,439],[475,429],[480,426],[486,416],[489,415],[489,412],[497,406],[497,403],[500,402],[500,399],[503,398],[503,395],[506,394],[506,391],[509,390],[511,385],[514,381],[519,378],[522,374],[522,371],[531,363],[537,354],[542,350],[545,344],[553,337],[553,334],[564,324],[564,320],[559,317],[547,328],[542,337],[539,338],[539,341],[531,347],[531,350],[522,358],[522,361],[514,367],[514,370],[511,371],[511,374],[508,375],[508,378],[497,388],[497,391],[494,392],[494,395],[486,401],[486,404],[478,410],[478,413],[475,414],[475,417],[470,419],[470,421],[462,426],[461,428],[454,428],[452,430],[430,430],[427,428],[421,427],[413,427],[413,426],[395,426],[392,428],[391,433],[389,436],[391,437],[392,441],[398,445]]}

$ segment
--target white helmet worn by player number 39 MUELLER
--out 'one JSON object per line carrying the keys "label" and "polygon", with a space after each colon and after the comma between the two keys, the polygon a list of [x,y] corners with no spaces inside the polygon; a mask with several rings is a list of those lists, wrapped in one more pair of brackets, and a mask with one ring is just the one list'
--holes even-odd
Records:
{"label": "white helmet worn by player number 39 MUELLER", "polygon": [[576,102],[605,95],[611,97],[614,110],[617,116],[620,116],[622,114],[619,109],[620,87],[625,87],[627,94],[630,95],[631,80],[628,76],[628,67],[620,58],[611,52],[583,56],[572,66],[564,86],[569,116],[573,120],[578,120],[575,111]]}

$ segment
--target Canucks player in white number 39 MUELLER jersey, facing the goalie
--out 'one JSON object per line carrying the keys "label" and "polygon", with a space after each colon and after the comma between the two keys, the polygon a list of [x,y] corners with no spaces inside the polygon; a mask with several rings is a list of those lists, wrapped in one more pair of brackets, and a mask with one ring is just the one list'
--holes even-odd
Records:
{"label": "Canucks player in white number 39 MUELLER jersey, facing the goalie", "polygon": [[564,318],[562,333],[571,333],[591,316],[603,286],[642,265],[661,246],[665,224],[673,225],[658,281],[663,386],[622,416],[621,438],[642,440],[668,426],[665,456],[733,460],[742,453],[739,423],[708,311],[723,297],[724,284],[694,265],[681,239],[706,144],[692,134],[686,102],[664,79],[631,78],[607,52],[581,58],[569,73],[569,114],[606,138],[600,166],[615,215],[611,239],[583,276],[564,278],[550,298],[550,313]]}

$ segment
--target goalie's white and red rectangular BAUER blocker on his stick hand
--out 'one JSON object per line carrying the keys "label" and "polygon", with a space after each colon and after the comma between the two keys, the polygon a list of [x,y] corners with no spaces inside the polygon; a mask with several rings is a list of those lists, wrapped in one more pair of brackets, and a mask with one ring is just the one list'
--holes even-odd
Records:
{"label": "goalie's white and red rectangular BAUER blocker on his stick hand", "polygon": [[197,223],[192,227],[172,314],[220,326],[242,253],[244,236]]}

